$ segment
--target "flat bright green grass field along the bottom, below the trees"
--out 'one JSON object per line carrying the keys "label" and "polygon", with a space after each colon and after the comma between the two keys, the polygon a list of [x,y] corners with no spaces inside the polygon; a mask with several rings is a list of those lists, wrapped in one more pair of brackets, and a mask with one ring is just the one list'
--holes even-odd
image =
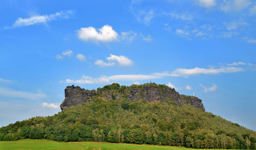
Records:
{"label": "flat bright green grass field along the bottom, below the trees", "polygon": [[56,142],[49,140],[0,141],[0,149],[186,149],[185,147],[104,142]]}

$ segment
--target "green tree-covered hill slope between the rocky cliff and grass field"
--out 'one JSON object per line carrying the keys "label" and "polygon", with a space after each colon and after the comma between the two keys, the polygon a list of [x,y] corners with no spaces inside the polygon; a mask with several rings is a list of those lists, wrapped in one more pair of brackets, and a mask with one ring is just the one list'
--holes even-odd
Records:
{"label": "green tree-covered hill slope between the rocky cliff and grass field", "polygon": [[255,149],[256,132],[190,104],[97,96],[54,116],[0,128],[0,140],[24,138]]}

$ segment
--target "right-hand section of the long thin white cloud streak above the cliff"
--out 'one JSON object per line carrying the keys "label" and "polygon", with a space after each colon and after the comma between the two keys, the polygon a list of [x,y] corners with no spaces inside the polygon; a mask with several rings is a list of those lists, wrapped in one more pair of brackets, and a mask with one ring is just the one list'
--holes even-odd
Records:
{"label": "right-hand section of the long thin white cloud streak above the cliff", "polygon": [[206,68],[194,68],[194,69],[176,69],[172,73],[179,74],[182,76],[190,76],[190,75],[199,75],[199,74],[219,74],[219,73],[234,73],[234,72],[241,72],[243,71],[242,68],[237,67],[221,67],[218,69],[206,69]]}

